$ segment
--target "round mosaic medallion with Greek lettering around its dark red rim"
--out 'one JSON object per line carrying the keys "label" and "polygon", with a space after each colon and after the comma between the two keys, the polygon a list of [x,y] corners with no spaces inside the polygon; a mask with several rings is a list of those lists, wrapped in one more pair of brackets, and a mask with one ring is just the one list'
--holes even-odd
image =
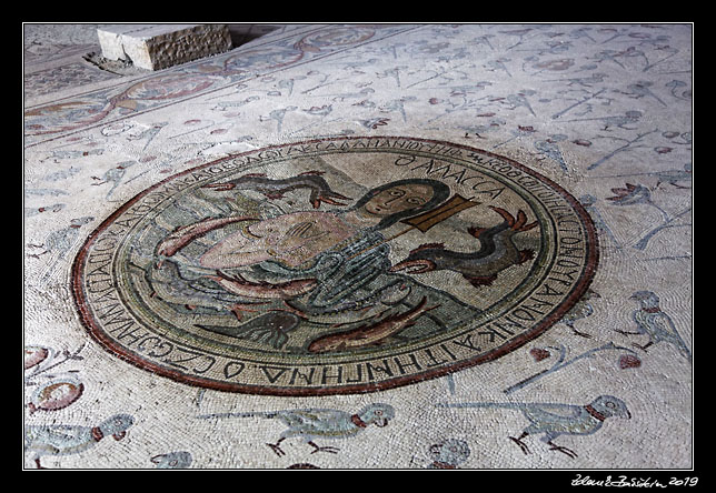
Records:
{"label": "round mosaic medallion with Greek lettering around its dark red rim", "polygon": [[366,137],[168,178],[89,237],[72,282],[91,335],[147,371],[320,395],[495,360],[558,321],[596,264],[588,214],[535,171]]}

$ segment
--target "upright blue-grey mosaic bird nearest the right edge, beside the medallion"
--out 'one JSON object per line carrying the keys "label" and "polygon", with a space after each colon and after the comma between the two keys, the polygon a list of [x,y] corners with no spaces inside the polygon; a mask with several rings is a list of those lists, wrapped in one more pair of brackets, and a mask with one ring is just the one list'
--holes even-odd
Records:
{"label": "upright blue-grey mosaic bird nearest the right edge, beside the medallion", "polygon": [[674,321],[659,308],[659,296],[652,291],[637,291],[629,296],[629,300],[635,300],[639,303],[639,309],[632,314],[632,319],[636,322],[637,331],[627,332],[617,330],[617,332],[626,335],[648,335],[649,340],[646,344],[634,344],[644,351],[658,342],[667,342],[673,344],[684,358],[689,361],[692,360],[692,353],[676,331]]}

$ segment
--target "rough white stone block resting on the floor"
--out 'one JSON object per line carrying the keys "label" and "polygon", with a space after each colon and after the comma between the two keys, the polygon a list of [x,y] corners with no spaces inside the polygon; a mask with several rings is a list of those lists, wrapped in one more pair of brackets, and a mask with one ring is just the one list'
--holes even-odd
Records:
{"label": "rough white stone block resting on the floor", "polygon": [[229,51],[226,24],[115,24],[97,30],[102,56],[161,70]]}

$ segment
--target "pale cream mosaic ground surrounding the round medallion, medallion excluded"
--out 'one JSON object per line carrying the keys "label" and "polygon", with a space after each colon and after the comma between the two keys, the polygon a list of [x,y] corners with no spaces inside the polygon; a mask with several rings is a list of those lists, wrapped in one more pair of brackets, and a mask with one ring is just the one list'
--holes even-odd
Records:
{"label": "pale cream mosaic ground surrounding the round medallion, medallion excluded", "polygon": [[[42,466],[693,467],[693,26],[235,26],[241,43],[232,51],[158,72],[88,61],[99,50],[96,27],[23,27],[27,469],[48,443],[69,443],[58,431],[81,442],[80,452],[43,455]],[[122,203],[231,153],[381,134],[495,152],[578,198],[600,242],[598,296],[579,305],[588,315],[450,376],[321,398],[200,390],[135,368],[89,339],[72,303],[71,263]],[[643,291],[658,305],[632,298]],[[658,323],[673,326],[688,352],[673,339],[635,345]],[[646,332],[623,333],[639,328]],[[540,434],[521,440],[524,453],[509,440],[529,425],[519,409],[474,406],[584,410],[605,394],[624,401],[630,419],[555,439],[576,456],[550,450]],[[287,427],[278,419],[198,417],[354,414],[372,403],[389,404],[395,416],[355,436],[316,439],[336,453],[295,436],[278,455],[266,445]],[[92,427],[118,414],[131,416],[126,435],[116,441],[109,435],[119,430],[109,430],[97,441]]]}

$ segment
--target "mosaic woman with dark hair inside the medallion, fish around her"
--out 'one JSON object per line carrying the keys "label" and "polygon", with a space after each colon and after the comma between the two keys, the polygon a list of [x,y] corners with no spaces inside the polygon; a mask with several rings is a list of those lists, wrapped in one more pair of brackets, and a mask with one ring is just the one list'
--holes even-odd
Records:
{"label": "mosaic woman with dark hair inside the medallion, fish around her", "polygon": [[[231,325],[202,328],[226,334],[267,334],[266,341],[275,346],[287,339],[267,332],[267,324],[372,326],[385,322],[388,311],[396,322],[392,335],[399,333],[402,340],[412,339],[412,333],[417,338],[447,330],[479,311],[441,290],[390,272],[386,231],[435,210],[449,194],[442,182],[406,179],[369,190],[346,210],[200,221],[162,239],[148,279],[165,301],[228,309],[238,319]],[[310,351],[319,346],[308,340],[305,345]]]}

